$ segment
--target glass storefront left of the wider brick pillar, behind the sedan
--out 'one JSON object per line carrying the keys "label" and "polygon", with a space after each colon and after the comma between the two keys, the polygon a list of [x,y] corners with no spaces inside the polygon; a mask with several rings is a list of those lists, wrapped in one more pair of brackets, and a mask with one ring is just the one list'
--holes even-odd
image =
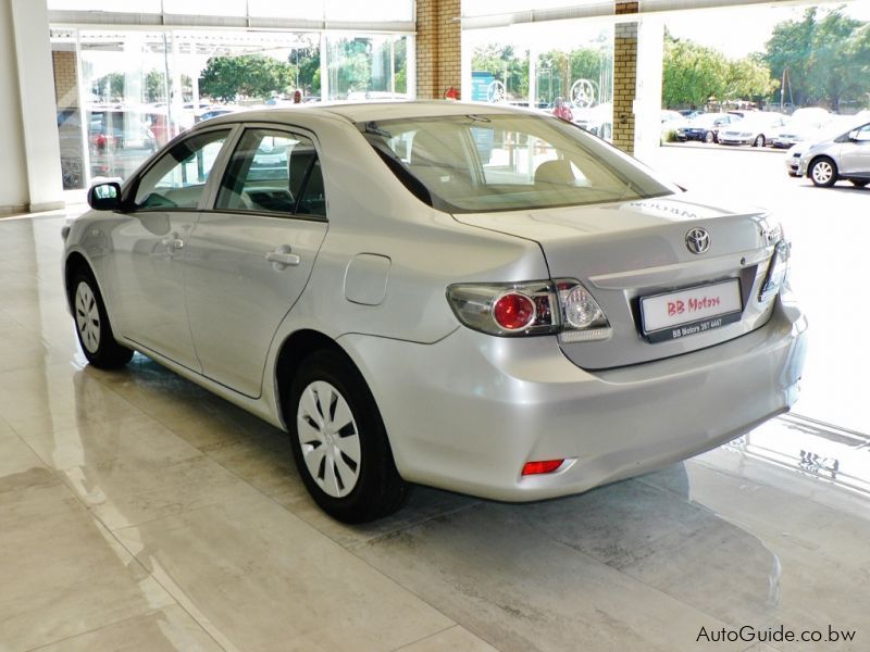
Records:
{"label": "glass storefront left of the wider brick pillar, behind the sedan", "polygon": [[197,122],[248,108],[407,97],[405,35],[52,28],[66,189],[127,178]]}

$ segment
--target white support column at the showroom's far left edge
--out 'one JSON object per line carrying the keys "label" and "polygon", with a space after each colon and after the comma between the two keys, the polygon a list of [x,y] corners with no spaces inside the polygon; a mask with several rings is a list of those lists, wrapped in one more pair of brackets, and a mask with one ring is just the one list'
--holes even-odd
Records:
{"label": "white support column at the showroom's far left edge", "polygon": [[[11,75],[4,74],[3,77],[17,80],[17,88],[9,89],[13,91],[13,101],[17,98],[17,110],[0,114],[13,117],[12,126],[20,130],[24,146],[23,165],[15,161],[17,156],[14,152],[10,161],[11,167],[23,167],[24,173],[24,188],[20,187],[13,191],[11,197],[17,199],[11,203],[14,205],[24,199],[30,211],[60,209],[65,203],[61,181],[61,153],[47,2],[11,0],[9,3],[3,3],[0,12],[4,12],[7,7],[12,11],[0,17],[0,23],[5,23],[0,26],[3,33],[2,48],[7,50],[8,43],[14,43],[14,50],[11,53],[3,53],[2,65],[14,66],[15,70],[7,71],[11,72]],[[21,117],[20,122],[15,121],[16,116]],[[3,142],[7,142],[5,139]],[[3,167],[5,173],[7,166]],[[7,201],[0,197],[0,206],[7,204]]]}

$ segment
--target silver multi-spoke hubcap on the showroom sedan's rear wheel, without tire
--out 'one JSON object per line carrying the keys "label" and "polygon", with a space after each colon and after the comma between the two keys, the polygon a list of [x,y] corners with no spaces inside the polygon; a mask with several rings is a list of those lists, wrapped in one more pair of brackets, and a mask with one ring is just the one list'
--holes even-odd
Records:
{"label": "silver multi-spoke hubcap on the showroom sedan's rear wheel, without tire", "polygon": [[296,430],[308,473],[328,496],[343,498],[360,477],[360,436],[341,393],[324,380],[302,391]]}

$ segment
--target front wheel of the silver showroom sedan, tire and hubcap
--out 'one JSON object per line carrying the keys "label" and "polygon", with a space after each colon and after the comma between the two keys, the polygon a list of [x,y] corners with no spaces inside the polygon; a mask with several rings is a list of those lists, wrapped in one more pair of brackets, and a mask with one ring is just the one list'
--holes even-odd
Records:
{"label": "front wheel of the silver showroom sedan, tire and hubcap", "polygon": [[90,364],[100,369],[117,369],[130,361],[133,351],[115,341],[100,288],[89,269],[73,273],[70,304],[78,343]]}

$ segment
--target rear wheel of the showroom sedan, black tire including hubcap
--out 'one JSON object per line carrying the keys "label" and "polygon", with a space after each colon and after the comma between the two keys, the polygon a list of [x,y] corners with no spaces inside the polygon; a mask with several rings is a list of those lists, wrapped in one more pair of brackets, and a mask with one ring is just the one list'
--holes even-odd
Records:
{"label": "rear wheel of the showroom sedan, black tire including hubcap", "polygon": [[[325,411],[322,401],[328,402]],[[345,409],[349,421],[341,423]],[[315,351],[302,362],[284,413],[296,467],[324,512],[343,523],[365,523],[401,506],[407,485],[396,471],[381,413],[341,352]]]}

